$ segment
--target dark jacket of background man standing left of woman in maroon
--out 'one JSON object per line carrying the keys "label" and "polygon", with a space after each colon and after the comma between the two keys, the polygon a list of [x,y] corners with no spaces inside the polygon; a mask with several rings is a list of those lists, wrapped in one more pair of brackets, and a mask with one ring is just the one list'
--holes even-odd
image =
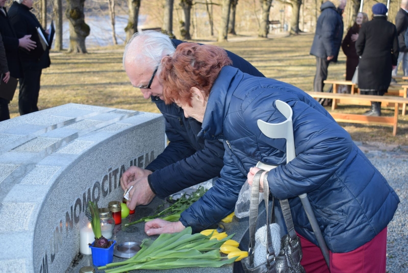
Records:
{"label": "dark jacket of background man standing left of woman in maroon", "polygon": [[343,20],[330,1],[323,3],[320,11],[310,54],[323,59],[334,56],[331,61],[336,62],[343,39]]}

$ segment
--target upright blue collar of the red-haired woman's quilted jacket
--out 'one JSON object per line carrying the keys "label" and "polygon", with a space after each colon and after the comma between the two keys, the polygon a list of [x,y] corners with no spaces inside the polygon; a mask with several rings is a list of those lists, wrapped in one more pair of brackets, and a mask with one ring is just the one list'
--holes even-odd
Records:
{"label": "upright blue collar of the red-haired woman's quilted jacket", "polygon": [[223,121],[230,107],[232,94],[243,77],[244,73],[238,68],[224,66],[221,69],[208,97],[199,137],[210,140],[222,138]]}

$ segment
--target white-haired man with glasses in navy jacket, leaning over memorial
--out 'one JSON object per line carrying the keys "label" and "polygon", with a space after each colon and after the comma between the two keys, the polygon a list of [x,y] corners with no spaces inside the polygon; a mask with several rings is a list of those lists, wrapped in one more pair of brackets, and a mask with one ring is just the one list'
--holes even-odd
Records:
{"label": "white-haired man with glasses in navy jacket, leaning over memorial", "polygon": [[[174,53],[180,40],[170,40],[167,35],[155,31],[135,34],[127,43],[123,54],[123,66],[134,87],[140,88],[144,98],[151,98],[165,117],[166,135],[170,141],[164,152],[144,169],[133,166],[126,170],[120,184],[130,191],[130,209],[145,205],[157,195],[168,195],[219,176],[223,166],[224,148],[218,140],[197,137],[201,123],[186,118],[176,104],[162,101],[163,86],[158,75],[160,61]],[[233,66],[253,76],[264,77],[255,67],[241,57],[227,52]],[[149,56],[149,57],[146,57]],[[141,63],[145,65],[140,65]]]}

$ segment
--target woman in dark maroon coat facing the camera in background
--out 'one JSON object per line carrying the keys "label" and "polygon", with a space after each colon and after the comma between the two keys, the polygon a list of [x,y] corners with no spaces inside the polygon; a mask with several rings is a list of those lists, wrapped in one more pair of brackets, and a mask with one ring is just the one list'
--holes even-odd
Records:
{"label": "woman in dark maroon coat facing the camera in background", "polygon": [[355,41],[359,38],[361,25],[368,21],[368,16],[364,12],[359,12],[355,18],[355,22],[351,28],[348,29],[346,37],[341,43],[344,55],[347,57],[346,61],[346,81],[351,81],[353,78],[355,68],[359,65],[359,55],[355,52]]}

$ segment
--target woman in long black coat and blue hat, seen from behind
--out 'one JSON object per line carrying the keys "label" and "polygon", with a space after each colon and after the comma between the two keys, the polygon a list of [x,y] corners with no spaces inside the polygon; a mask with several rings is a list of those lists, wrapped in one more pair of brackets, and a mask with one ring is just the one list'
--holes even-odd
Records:
{"label": "woman in long black coat and blue hat, seen from behind", "polygon": [[[387,21],[386,5],[372,7],[373,19],[362,25],[355,49],[360,56],[359,88],[361,94],[384,95],[391,82],[391,72],[397,65],[399,47],[395,25]],[[381,103],[371,102],[368,116],[381,115]]]}

